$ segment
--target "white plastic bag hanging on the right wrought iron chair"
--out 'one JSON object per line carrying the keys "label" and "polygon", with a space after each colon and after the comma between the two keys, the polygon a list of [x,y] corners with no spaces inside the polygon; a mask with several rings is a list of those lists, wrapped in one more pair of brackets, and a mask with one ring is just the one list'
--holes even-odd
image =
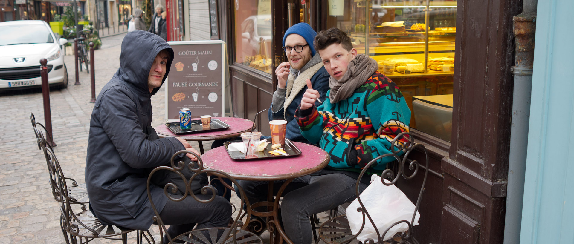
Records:
{"label": "white plastic bag hanging on the right wrought iron chair", "polygon": [[[386,179],[385,182],[389,183]],[[360,194],[360,199],[381,235],[393,223],[403,220],[410,222],[413,218],[414,204],[394,184],[385,186],[381,182],[381,176],[373,175],[371,177],[371,184]],[[357,212],[358,207],[360,207],[359,201],[355,199],[346,210],[352,234],[356,234],[363,223],[363,214]],[[363,231],[357,236],[357,239],[363,243],[367,238],[377,242],[377,232],[366,215],[365,218]],[[418,225],[419,218],[420,214],[417,211],[414,223],[412,223],[413,226]],[[409,230],[409,226],[406,223],[395,225],[387,232],[382,241],[393,237],[397,232],[407,230]]]}

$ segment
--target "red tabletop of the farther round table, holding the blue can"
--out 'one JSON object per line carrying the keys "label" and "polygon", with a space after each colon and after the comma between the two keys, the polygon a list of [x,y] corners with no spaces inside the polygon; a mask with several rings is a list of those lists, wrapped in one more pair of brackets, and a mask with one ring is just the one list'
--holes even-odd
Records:
{"label": "red tabletop of the farther round table, holding the blue can", "polygon": [[227,123],[230,127],[224,129],[223,131],[189,133],[187,135],[176,135],[170,131],[169,128],[165,126],[165,124],[162,124],[154,129],[156,129],[157,135],[160,137],[179,136],[187,141],[210,141],[237,137],[241,135],[241,133],[249,131],[253,126],[253,121],[248,119],[236,117],[213,117],[212,119],[221,120]]}

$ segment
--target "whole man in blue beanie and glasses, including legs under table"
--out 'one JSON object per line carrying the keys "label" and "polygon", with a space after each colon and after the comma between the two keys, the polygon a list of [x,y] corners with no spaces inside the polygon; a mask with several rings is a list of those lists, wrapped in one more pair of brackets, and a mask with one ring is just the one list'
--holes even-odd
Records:
{"label": "whole man in blue beanie and glasses, including legs under table", "polygon": [[[273,93],[273,100],[269,109],[269,120],[288,121],[285,137],[302,143],[309,143],[309,141],[301,135],[301,129],[297,120],[294,119],[294,115],[305,90],[308,89],[307,81],[311,82],[311,89],[319,92],[321,101],[325,101],[325,94],[329,90],[329,73],[323,67],[321,57],[313,46],[316,35],[317,33],[308,23],[297,23],[285,32],[283,51],[289,62],[282,62],[275,70],[278,85],[277,90]],[[316,101],[316,106],[319,105],[321,103]],[[310,179],[311,176],[308,175],[294,179],[285,188],[284,194],[307,186]],[[273,194],[277,194],[283,182],[285,180],[276,181]],[[240,180],[239,184],[245,191],[250,203],[267,200],[269,182]],[[261,234],[266,230],[265,221],[263,219],[251,221],[247,228],[253,233]]]}

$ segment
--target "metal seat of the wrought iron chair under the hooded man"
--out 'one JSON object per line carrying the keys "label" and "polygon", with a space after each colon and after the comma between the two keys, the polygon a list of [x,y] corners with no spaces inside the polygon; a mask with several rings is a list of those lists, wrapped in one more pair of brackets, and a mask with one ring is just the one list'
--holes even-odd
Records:
{"label": "metal seat of the wrought iron chair under the hooded man", "polygon": [[92,214],[90,210],[82,211],[80,214],[76,214],[76,217],[88,228],[95,231],[94,233],[91,230],[86,229],[86,227],[76,221],[75,218],[71,218],[69,226],[77,226],[77,229],[69,230],[68,232],[76,235],[77,237],[114,237],[134,231],[121,226],[102,225],[102,222],[100,222],[98,218],[94,217],[94,214]]}

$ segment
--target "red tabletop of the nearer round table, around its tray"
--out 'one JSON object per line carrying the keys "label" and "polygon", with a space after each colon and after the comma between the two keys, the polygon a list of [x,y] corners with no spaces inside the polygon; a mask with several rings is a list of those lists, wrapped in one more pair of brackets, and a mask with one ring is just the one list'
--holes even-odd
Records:
{"label": "red tabletop of the nearer round table, around its tray", "polygon": [[329,163],[329,154],[319,147],[293,142],[301,155],[286,158],[234,160],[223,147],[201,155],[203,167],[230,174],[238,180],[282,180],[311,174]]}

